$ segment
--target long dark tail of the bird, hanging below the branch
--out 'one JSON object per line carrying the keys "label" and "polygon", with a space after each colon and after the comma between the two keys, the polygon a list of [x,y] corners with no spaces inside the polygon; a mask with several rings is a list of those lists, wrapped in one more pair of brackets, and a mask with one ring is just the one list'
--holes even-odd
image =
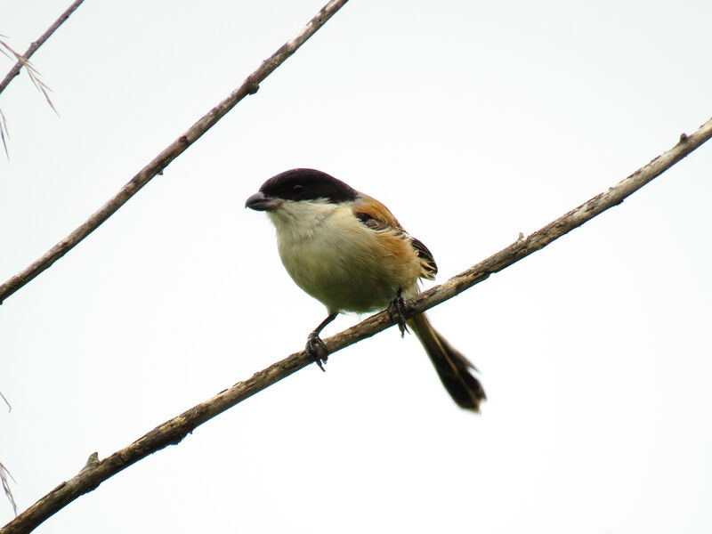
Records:
{"label": "long dark tail of the bird, hanging below the branch", "polygon": [[480,402],[485,401],[487,397],[480,381],[473,375],[473,371],[477,369],[470,360],[453,349],[445,338],[435,331],[425,313],[409,320],[408,326],[425,347],[442,385],[448,390],[453,401],[457,402],[457,406],[480,411]]}

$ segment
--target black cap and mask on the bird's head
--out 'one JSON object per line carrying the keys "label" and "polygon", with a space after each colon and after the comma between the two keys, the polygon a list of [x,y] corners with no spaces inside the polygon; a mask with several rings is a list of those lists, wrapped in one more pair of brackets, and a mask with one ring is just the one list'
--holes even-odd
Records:
{"label": "black cap and mask on the bird's head", "polygon": [[272,176],[262,184],[265,197],[283,200],[316,200],[344,202],[356,198],[357,192],[341,180],[315,169],[292,169]]}

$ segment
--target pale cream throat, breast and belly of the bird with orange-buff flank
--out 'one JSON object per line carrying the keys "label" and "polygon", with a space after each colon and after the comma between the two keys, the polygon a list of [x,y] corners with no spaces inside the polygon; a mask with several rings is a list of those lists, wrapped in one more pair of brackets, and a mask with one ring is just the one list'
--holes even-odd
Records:
{"label": "pale cream throat, breast and belly of the bird with orange-buff flank", "polygon": [[287,272],[329,312],[382,310],[399,289],[417,292],[421,266],[409,240],[369,229],[351,206],[286,201],[269,215]]}

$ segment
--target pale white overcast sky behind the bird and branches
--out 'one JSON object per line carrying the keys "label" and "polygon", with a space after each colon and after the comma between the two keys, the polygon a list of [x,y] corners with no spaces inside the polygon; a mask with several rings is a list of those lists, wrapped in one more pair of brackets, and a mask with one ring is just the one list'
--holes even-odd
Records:
{"label": "pale white overcast sky behind the bird and branches", "polygon": [[[324,0],[86,0],[0,96],[0,279],[52,247]],[[4,0],[24,51],[69,0]],[[439,281],[712,116],[712,4],[352,0],[108,223],[0,307],[0,461],[25,508],[303,346],[323,319],[245,199],[312,166],[384,201]],[[0,71],[10,69],[0,63]],[[37,532],[712,531],[712,145],[433,310],[303,369]],[[352,325],[340,318],[326,334]],[[0,500],[0,523],[12,518]]]}

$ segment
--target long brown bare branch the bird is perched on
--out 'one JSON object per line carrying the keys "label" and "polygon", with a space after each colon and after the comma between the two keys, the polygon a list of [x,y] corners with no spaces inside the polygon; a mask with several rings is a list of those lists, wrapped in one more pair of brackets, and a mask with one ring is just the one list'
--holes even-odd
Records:
{"label": "long brown bare branch the bird is perched on", "polygon": [[[490,274],[501,271],[507,266],[518,262],[523,257],[546,247],[555,239],[565,233],[578,228],[583,223],[593,219],[612,206],[619,205],[625,198],[639,190],[656,176],[675,165],[682,158],[697,149],[712,137],[712,119],[700,126],[692,135],[681,135],[680,142],[658,158],[653,159],[648,165],[641,167],[609,190],[591,198],[586,203],[563,214],[554,222],[524,238],[520,236],[509,247],[491,255],[486,260],[473,265],[467,271],[449,279],[441,286],[433,287],[409,301],[409,316],[432,308],[454,295],[462,293],[465,289],[473,287]],[[361,339],[392,326],[392,319],[388,312],[379,312],[361,321],[358,325],[348,328],[325,340],[328,351],[333,353],[344,347],[354,344]],[[79,496],[94,490],[102,481],[122,471],[150,454],[175,445],[193,432],[196,427],[208,419],[217,416],[226,409],[244,401],[256,392],[275,384],[282,378],[295,373],[301,368],[312,363],[305,352],[295,352],[286,359],[272,364],[270,367],[255,373],[254,376],[233,385],[230,389],[218,393],[212,399],[201,402],[197,406],[184,411],[180,416],[158,425],[149,433],[134,441],[131,445],[120,449],[102,460],[87,462],[87,465],[69,481],[62,482],[54,490],[30,506],[11,522],[7,523],[0,534],[24,534],[34,530],[45,519],[67,506]],[[91,460],[91,458],[90,458]]]}

